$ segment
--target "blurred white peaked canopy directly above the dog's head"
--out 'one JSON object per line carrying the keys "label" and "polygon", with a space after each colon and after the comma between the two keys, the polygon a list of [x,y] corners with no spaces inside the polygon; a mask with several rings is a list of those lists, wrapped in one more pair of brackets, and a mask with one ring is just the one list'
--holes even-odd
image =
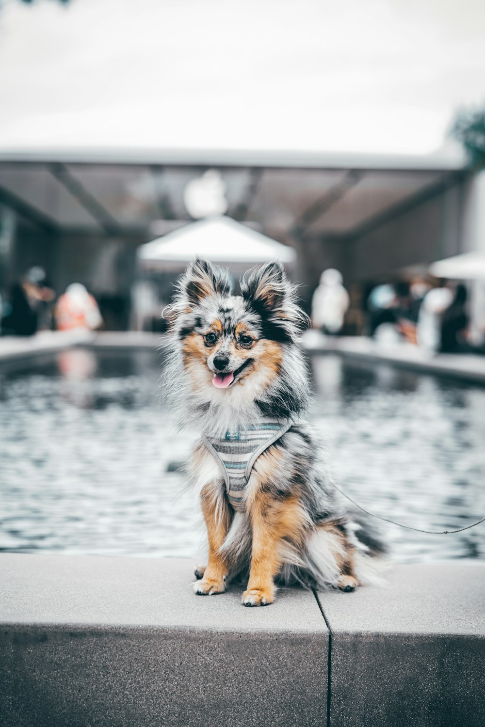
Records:
{"label": "blurred white peaked canopy directly above the dog's head", "polygon": [[175,230],[138,248],[138,260],[145,270],[181,270],[197,255],[233,270],[280,260],[294,265],[297,254],[230,217],[209,217]]}

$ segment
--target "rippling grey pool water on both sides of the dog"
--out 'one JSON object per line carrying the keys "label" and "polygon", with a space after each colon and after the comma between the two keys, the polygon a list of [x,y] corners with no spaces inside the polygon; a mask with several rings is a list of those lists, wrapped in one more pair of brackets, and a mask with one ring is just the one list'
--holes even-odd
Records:
{"label": "rippling grey pool water on both sides of the dog", "polygon": [[[337,356],[311,360],[310,417],[358,502],[422,529],[485,515],[485,389]],[[148,351],[0,367],[0,550],[196,555],[193,498],[177,466],[190,441],[159,403]],[[485,523],[431,536],[382,525],[399,561],[484,558]]]}

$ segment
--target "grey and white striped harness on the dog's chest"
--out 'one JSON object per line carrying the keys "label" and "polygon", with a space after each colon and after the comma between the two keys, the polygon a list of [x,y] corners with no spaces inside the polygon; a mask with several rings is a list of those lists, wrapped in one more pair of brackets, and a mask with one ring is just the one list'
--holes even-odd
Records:
{"label": "grey and white striped harness on the dog's chest", "polygon": [[292,424],[291,420],[282,424],[278,419],[262,417],[254,427],[239,432],[226,432],[222,439],[203,435],[202,441],[223,467],[226,496],[234,510],[244,512],[244,490],[254,462]]}

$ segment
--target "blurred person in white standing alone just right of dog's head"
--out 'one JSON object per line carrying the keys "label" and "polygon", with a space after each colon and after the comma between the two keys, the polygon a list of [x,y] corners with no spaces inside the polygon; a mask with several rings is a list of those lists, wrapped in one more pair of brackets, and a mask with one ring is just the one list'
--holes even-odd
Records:
{"label": "blurred person in white standing alone just right of dog's head", "polygon": [[313,293],[311,318],[315,328],[335,335],[343,326],[349,305],[348,292],[342,285],[342,274],[334,268],[321,273],[320,284]]}

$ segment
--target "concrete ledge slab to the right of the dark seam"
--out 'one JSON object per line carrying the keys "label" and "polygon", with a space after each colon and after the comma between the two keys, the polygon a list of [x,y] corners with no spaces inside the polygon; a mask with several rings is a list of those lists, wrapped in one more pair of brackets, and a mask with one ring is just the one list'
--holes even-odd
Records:
{"label": "concrete ledge slab to the right of the dark seam", "polygon": [[483,727],[485,566],[396,566],[385,588],[321,593],[330,725]]}

